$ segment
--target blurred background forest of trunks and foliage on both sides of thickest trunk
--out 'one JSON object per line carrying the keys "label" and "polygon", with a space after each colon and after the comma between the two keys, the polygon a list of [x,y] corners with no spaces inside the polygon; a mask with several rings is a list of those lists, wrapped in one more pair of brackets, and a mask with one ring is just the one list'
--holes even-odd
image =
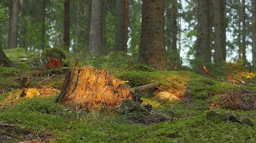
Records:
{"label": "blurred background forest of trunks and foliage on both sides of thickest trunk", "polygon": [[[59,48],[80,60],[93,60],[92,56],[121,51],[127,53],[133,62],[137,61],[142,1],[93,2],[1,0],[0,43],[3,49],[22,47],[28,51],[39,51],[49,47]],[[92,6],[102,9],[92,9]],[[207,10],[207,13],[203,10]],[[100,15],[95,19],[97,14]],[[168,70],[174,70],[171,62],[179,69],[201,74],[202,65],[219,72],[228,68],[226,62],[231,61],[244,71],[251,72],[256,58],[254,0],[165,0],[164,16]],[[102,37],[102,40],[91,42],[93,46],[90,46],[89,31],[90,26],[95,25],[95,20],[101,21],[102,26],[96,28],[101,31],[93,36],[98,39]],[[12,36],[15,33],[17,36]],[[200,34],[205,38],[202,46],[196,44]],[[205,57],[206,60],[200,61],[198,57]],[[196,65],[199,61],[200,70]],[[219,68],[213,68],[213,64]]]}

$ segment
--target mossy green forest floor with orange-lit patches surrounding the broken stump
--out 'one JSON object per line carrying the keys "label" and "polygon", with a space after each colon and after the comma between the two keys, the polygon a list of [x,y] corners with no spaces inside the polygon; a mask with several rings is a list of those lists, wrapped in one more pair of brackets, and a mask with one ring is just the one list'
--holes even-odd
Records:
{"label": "mossy green forest floor with orange-lit patches surrounding the broken stump", "polygon": [[[22,55],[26,52],[21,51],[10,49],[4,52],[12,61],[18,61],[28,56]],[[71,62],[72,58],[70,70]],[[108,61],[96,63],[102,64],[97,68],[104,64],[107,68],[116,65]],[[15,64],[12,68],[0,67],[0,123],[18,126],[0,126],[0,141],[256,142],[255,126],[219,119],[218,115],[207,119],[210,110],[227,116],[236,111],[256,124],[256,87],[213,81],[186,71],[158,71],[143,65],[110,69],[113,76],[130,81],[131,87],[160,82],[161,89],[183,99],[160,100],[150,96],[150,92],[144,94],[142,104],[149,103],[154,112],[173,116],[169,121],[148,126],[108,109],[75,111],[56,104],[54,101],[65,78],[62,71],[66,68],[43,69],[28,61]],[[16,99],[21,90],[16,85],[17,78],[22,75],[31,76],[32,86],[40,96]]]}

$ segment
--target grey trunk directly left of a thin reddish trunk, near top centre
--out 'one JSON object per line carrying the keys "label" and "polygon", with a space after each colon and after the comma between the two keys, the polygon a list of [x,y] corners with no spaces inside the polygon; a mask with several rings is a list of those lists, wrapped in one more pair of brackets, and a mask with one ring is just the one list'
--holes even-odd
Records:
{"label": "grey trunk directly left of a thin reddish trunk, near top centre", "polygon": [[116,39],[114,51],[125,52],[125,0],[116,0]]}

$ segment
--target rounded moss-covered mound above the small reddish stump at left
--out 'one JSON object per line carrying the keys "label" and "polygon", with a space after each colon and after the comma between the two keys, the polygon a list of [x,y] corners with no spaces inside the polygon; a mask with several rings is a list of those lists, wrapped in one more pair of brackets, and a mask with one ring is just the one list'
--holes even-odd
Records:
{"label": "rounded moss-covered mound above the small reddish stump at left", "polygon": [[51,57],[58,59],[66,59],[65,53],[58,48],[47,48],[42,53],[42,58],[48,61]]}

